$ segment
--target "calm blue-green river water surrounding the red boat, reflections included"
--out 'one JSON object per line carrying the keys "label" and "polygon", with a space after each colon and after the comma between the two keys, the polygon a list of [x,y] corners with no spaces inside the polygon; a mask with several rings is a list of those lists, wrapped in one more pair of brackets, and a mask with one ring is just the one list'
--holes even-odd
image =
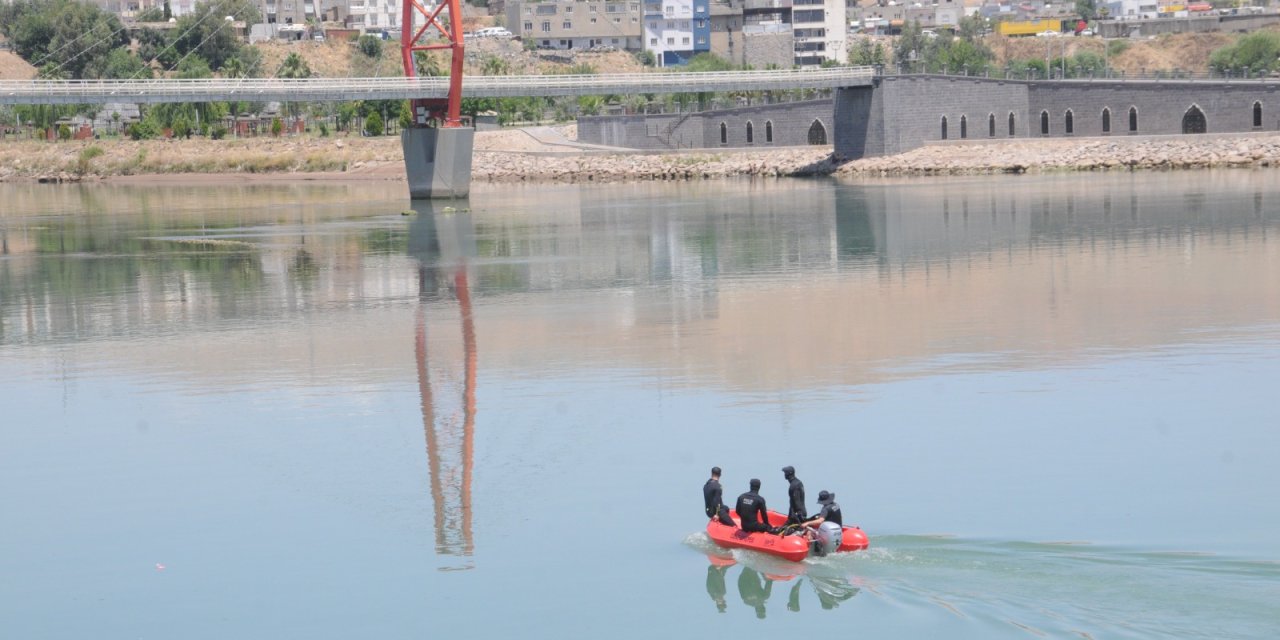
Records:
{"label": "calm blue-green river water surrounding the red boat, reflections included", "polygon": [[477,187],[0,186],[0,636],[1280,632],[1274,174]]}

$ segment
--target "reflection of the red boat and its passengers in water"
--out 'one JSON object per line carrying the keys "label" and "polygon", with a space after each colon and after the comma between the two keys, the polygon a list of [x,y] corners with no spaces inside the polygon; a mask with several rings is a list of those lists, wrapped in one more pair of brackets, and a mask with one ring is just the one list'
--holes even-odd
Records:
{"label": "reflection of the red boat and its passengers in water", "polygon": [[[708,554],[710,561],[707,566],[707,595],[716,603],[716,611],[726,613],[728,611],[727,579],[730,570],[737,564],[731,557]],[[778,572],[774,572],[778,571]],[[800,612],[803,585],[808,584],[818,599],[818,605],[826,611],[840,607],[840,603],[858,595],[858,588],[849,584],[840,576],[820,576],[806,572],[806,567],[796,564],[794,567],[749,567],[742,566],[737,575],[737,594],[742,604],[749,607],[756,618],[768,616],[767,604],[773,596],[774,582],[788,582],[795,580],[787,590],[786,608],[790,612]]]}

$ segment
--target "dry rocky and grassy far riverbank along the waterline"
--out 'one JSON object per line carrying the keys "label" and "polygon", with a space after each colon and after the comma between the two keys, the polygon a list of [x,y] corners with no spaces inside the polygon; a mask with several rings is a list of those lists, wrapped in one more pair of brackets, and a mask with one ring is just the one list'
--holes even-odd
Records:
{"label": "dry rocky and grassy far riverbank along the waterline", "polygon": [[[840,161],[819,147],[612,154],[520,129],[476,134],[476,182],[626,182],[800,175],[956,175],[1280,165],[1280,133],[933,143]],[[399,138],[0,142],[0,180],[403,180]]]}

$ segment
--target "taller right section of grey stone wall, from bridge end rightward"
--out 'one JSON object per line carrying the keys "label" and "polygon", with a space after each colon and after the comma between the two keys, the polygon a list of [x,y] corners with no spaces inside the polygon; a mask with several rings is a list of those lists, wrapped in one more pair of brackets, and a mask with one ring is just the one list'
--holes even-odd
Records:
{"label": "taller right section of grey stone wall, from bridge end rightward", "polygon": [[[874,87],[837,92],[835,148],[836,155],[854,159],[901,154],[943,140],[1165,136],[1184,133],[1184,124],[1189,133],[1196,133],[1199,118],[1193,108],[1203,115],[1202,127],[1208,133],[1276,131],[1280,83],[1023,82],[890,76]],[[1137,128],[1132,132],[1130,109],[1137,115]],[[1103,131],[1105,110],[1110,115],[1110,132]],[[1043,133],[1042,114],[1047,114],[1048,133]]]}

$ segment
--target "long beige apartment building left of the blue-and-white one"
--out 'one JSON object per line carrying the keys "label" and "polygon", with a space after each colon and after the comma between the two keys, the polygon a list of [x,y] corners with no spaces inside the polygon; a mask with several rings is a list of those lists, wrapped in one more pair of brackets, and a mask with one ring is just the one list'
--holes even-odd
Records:
{"label": "long beige apartment building left of the blue-and-white one", "polygon": [[540,49],[640,51],[641,17],[641,0],[507,1],[507,29]]}

